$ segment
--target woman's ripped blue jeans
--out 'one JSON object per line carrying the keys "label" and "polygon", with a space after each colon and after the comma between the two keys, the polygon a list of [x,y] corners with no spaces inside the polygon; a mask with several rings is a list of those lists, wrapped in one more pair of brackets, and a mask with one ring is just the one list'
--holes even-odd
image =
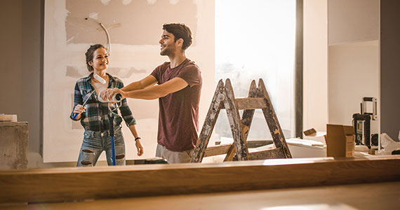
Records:
{"label": "woman's ripped blue jeans", "polygon": [[[116,165],[125,165],[125,142],[121,132],[121,125],[114,128],[115,160]],[[111,137],[109,131],[94,132],[85,130],[84,142],[79,153],[77,167],[94,167],[102,151],[105,151],[107,164],[112,165]]]}

